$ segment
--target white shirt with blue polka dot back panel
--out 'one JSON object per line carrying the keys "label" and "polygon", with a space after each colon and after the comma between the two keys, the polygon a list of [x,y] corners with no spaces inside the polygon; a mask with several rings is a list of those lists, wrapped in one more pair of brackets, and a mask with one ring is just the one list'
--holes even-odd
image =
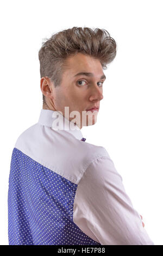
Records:
{"label": "white shirt with blue polka dot back panel", "polygon": [[154,245],[106,149],[49,109],[12,151],[8,236],[9,245]]}

